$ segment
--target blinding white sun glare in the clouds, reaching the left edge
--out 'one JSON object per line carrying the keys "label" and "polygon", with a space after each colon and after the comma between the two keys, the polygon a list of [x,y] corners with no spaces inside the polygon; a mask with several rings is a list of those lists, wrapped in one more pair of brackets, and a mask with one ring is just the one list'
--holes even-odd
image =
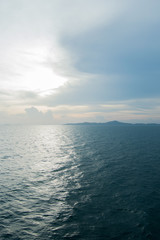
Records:
{"label": "blinding white sun glare in the clouds, reaching the left edge", "polygon": [[44,42],[15,47],[11,51],[11,74],[2,79],[1,89],[48,95],[62,86],[68,79],[57,73],[56,66],[64,59],[64,53],[56,44],[53,46]]}

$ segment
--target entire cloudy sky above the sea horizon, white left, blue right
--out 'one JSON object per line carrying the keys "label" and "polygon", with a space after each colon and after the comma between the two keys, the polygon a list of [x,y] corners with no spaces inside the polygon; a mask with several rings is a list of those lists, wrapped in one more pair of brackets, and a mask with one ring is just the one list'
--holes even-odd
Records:
{"label": "entire cloudy sky above the sea horizon, white left, blue right", "polygon": [[160,123],[159,0],[1,0],[0,124]]}

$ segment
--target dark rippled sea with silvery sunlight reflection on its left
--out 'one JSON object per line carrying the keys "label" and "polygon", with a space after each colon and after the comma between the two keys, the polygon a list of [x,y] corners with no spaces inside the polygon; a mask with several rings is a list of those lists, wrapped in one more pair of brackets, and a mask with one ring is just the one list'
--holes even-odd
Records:
{"label": "dark rippled sea with silvery sunlight reflection on its left", "polygon": [[0,126],[0,240],[160,239],[160,126]]}

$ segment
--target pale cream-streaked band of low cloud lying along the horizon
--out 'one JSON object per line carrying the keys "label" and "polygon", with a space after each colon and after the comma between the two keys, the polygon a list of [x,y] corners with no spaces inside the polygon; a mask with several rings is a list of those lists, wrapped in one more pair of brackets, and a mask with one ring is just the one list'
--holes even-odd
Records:
{"label": "pale cream-streaked band of low cloud lying along the horizon", "polygon": [[113,101],[108,104],[27,107],[23,113],[0,112],[0,124],[64,124],[67,122],[160,122],[160,99]]}

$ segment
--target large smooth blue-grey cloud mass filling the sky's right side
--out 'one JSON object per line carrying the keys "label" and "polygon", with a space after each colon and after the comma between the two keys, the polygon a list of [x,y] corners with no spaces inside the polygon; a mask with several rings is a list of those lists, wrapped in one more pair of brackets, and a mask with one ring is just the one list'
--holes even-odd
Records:
{"label": "large smooth blue-grey cloud mass filling the sky's right side", "polygon": [[48,97],[46,104],[160,97],[160,3],[131,1],[127,7],[128,12],[110,25],[61,38],[61,44],[78,56],[77,71],[95,77],[71,81]]}

